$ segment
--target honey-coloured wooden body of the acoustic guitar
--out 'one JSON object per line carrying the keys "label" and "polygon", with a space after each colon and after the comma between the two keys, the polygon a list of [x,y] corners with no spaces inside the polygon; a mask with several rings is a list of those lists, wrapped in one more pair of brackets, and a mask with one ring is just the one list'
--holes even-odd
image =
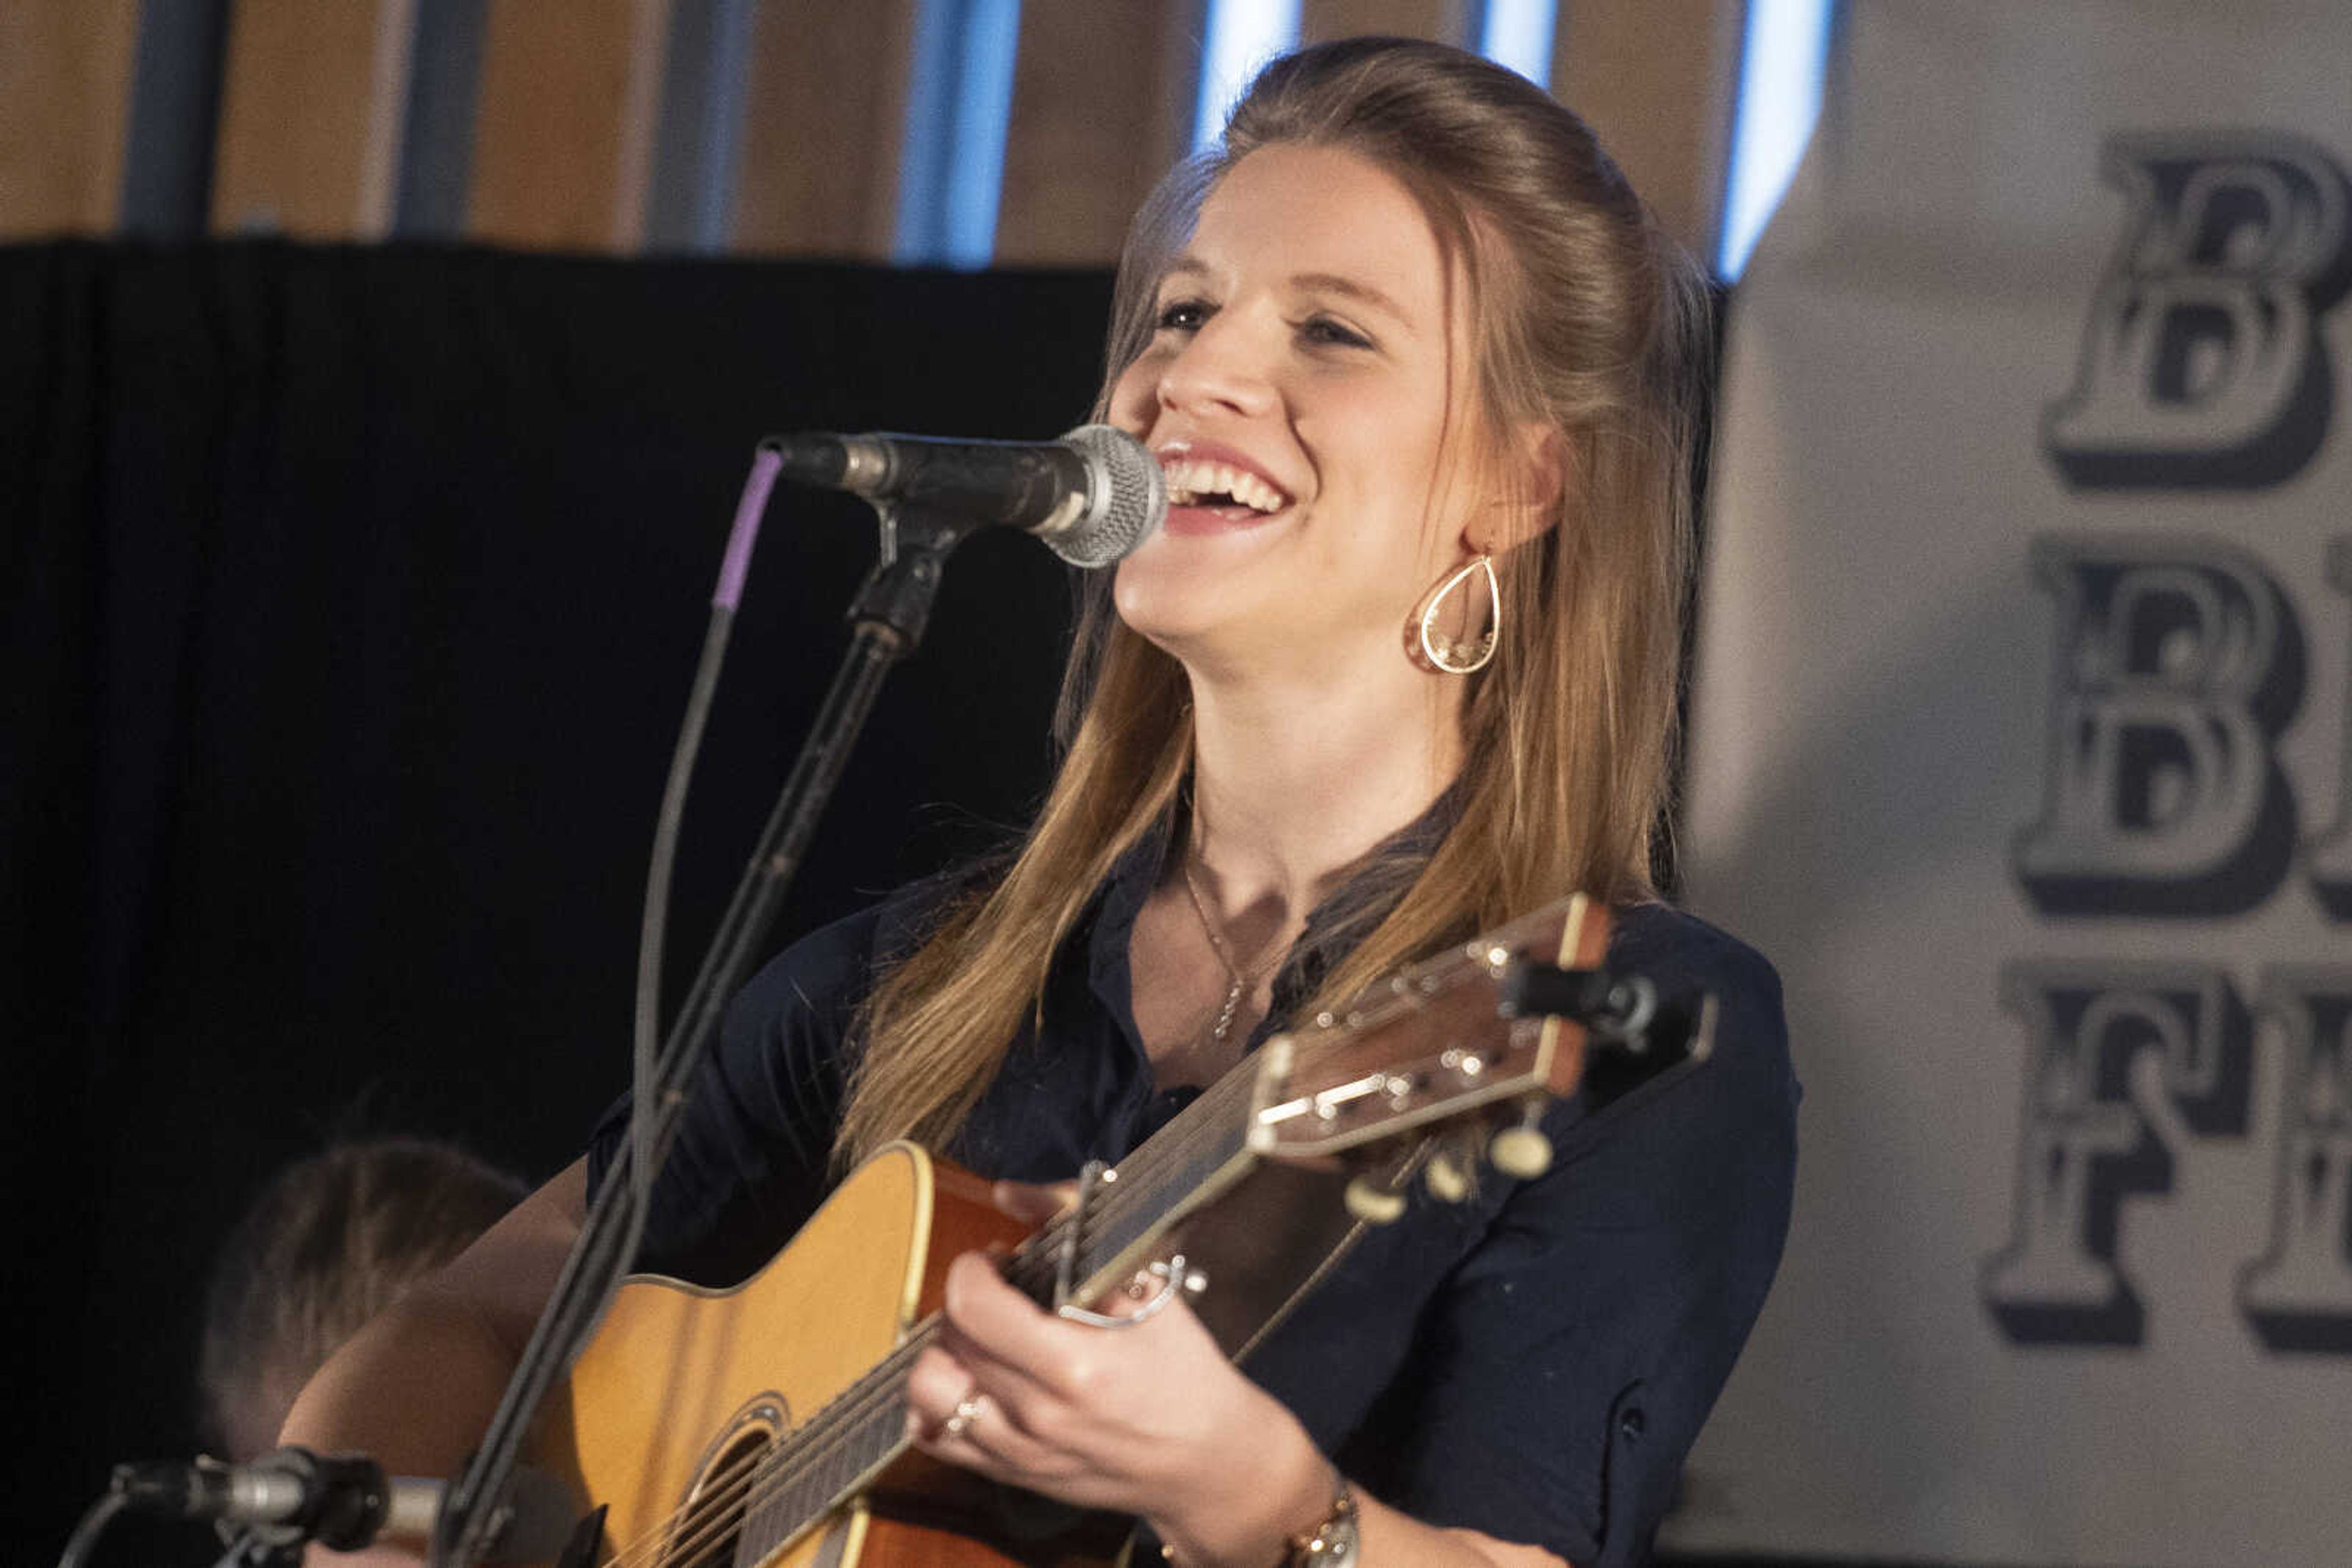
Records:
{"label": "honey-coloured wooden body of the acoustic guitar", "polygon": [[743,1284],[708,1291],[659,1276],[626,1281],[569,1380],[548,1399],[532,1443],[534,1467],[564,1481],[583,1514],[604,1509],[602,1542],[588,1561],[628,1568],[1105,1561],[1108,1554],[990,1544],[985,1488],[915,1453],[781,1552],[757,1556],[736,1533],[748,1465],[938,1307],[957,1253],[1021,1234],[988,1201],[985,1182],[934,1166],[913,1145],[891,1145],[858,1166],[793,1244]]}

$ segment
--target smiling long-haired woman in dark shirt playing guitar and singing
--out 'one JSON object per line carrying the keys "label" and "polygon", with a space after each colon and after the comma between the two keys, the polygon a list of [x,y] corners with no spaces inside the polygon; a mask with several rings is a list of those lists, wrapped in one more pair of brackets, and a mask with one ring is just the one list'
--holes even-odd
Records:
{"label": "smiling long-haired woman in dark shirt playing guitar and singing", "polygon": [[[1583,889],[1616,961],[1719,997],[1703,1072],[1555,1107],[1548,1175],[1416,1201],[1247,1378],[1181,1305],[1061,1321],[964,1258],[910,1422],[1178,1563],[1644,1556],[1792,1161],[1769,966],[1649,884],[1703,353],[1686,261],[1541,92],[1421,42],[1275,61],[1122,261],[1103,411],[1174,505],[1096,585],[1037,825],[746,990],[647,1265],[741,1274],[891,1138],[1018,1182],[1115,1161],[1282,1020]],[[447,1467],[619,1135],[287,1439]],[[435,1387],[397,1389],[426,1342]]]}

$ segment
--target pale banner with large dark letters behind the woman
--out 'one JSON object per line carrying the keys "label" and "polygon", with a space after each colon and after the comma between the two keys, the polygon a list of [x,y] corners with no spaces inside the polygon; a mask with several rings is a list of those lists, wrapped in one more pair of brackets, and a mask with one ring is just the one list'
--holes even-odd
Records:
{"label": "pale banner with large dark letters behind the woman", "polygon": [[2352,7],[1856,0],[1686,877],[1797,1222],[1679,1549],[2352,1563]]}

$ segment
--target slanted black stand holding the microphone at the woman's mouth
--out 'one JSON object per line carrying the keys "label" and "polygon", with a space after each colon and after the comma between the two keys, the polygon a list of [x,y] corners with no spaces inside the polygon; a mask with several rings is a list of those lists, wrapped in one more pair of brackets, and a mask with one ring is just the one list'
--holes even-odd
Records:
{"label": "slanted black stand holding the microphone at the woman's mouth", "polygon": [[[948,552],[971,529],[964,517],[894,501],[875,503],[875,510],[882,522],[882,550],[849,602],[849,651],[833,677],[816,724],[800,745],[793,771],[783,780],[783,792],[776,797],[743,879],[720,919],[717,936],[710,938],[677,1020],[663,1039],[652,1105],[637,1105],[633,1112],[654,1117],[652,1138],[642,1145],[652,1150],[647,1171],[635,1171],[633,1154],[640,1143],[626,1140],[588,1206],[588,1218],[564,1258],[555,1293],[499,1399],[482,1446],[449,1488],[433,1535],[433,1563],[440,1568],[473,1568],[494,1544],[506,1516],[501,1500],[529,1422],[548,1389],[588,1342],[637,1251],[637,1239],[644,1232],[642,1192],[652,1171],[661,1166],[684,1114],[687,1086],[703,1058],[710,1056],[710,1044],[727,1016],[727,1001],[741,990],[776,924],[783,896],[816,835],[816,820],[826,802],[833,799],[833,788],[840,783],[849,752],[882,693],[884,675],[922,644]],[[713,621],[713,637],[724,637],[724,630],[727,621]],[[485,1502],[496,1507],[485,1507]],[[567,1563],[574,1559],[593,1561],[600,1526],[602,1512],[581,1523],[581,1535],[564,1554]]]}

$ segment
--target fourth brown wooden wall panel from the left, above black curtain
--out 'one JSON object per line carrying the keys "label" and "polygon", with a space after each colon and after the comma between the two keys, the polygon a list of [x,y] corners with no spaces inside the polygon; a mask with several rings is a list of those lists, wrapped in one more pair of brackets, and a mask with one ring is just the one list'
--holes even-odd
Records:
{"label": "fourth brown wooden wall panel from the left, above black curtain", "polygon": [[913,56],[915,0],[764,0],[734,249],[889,256]]}

